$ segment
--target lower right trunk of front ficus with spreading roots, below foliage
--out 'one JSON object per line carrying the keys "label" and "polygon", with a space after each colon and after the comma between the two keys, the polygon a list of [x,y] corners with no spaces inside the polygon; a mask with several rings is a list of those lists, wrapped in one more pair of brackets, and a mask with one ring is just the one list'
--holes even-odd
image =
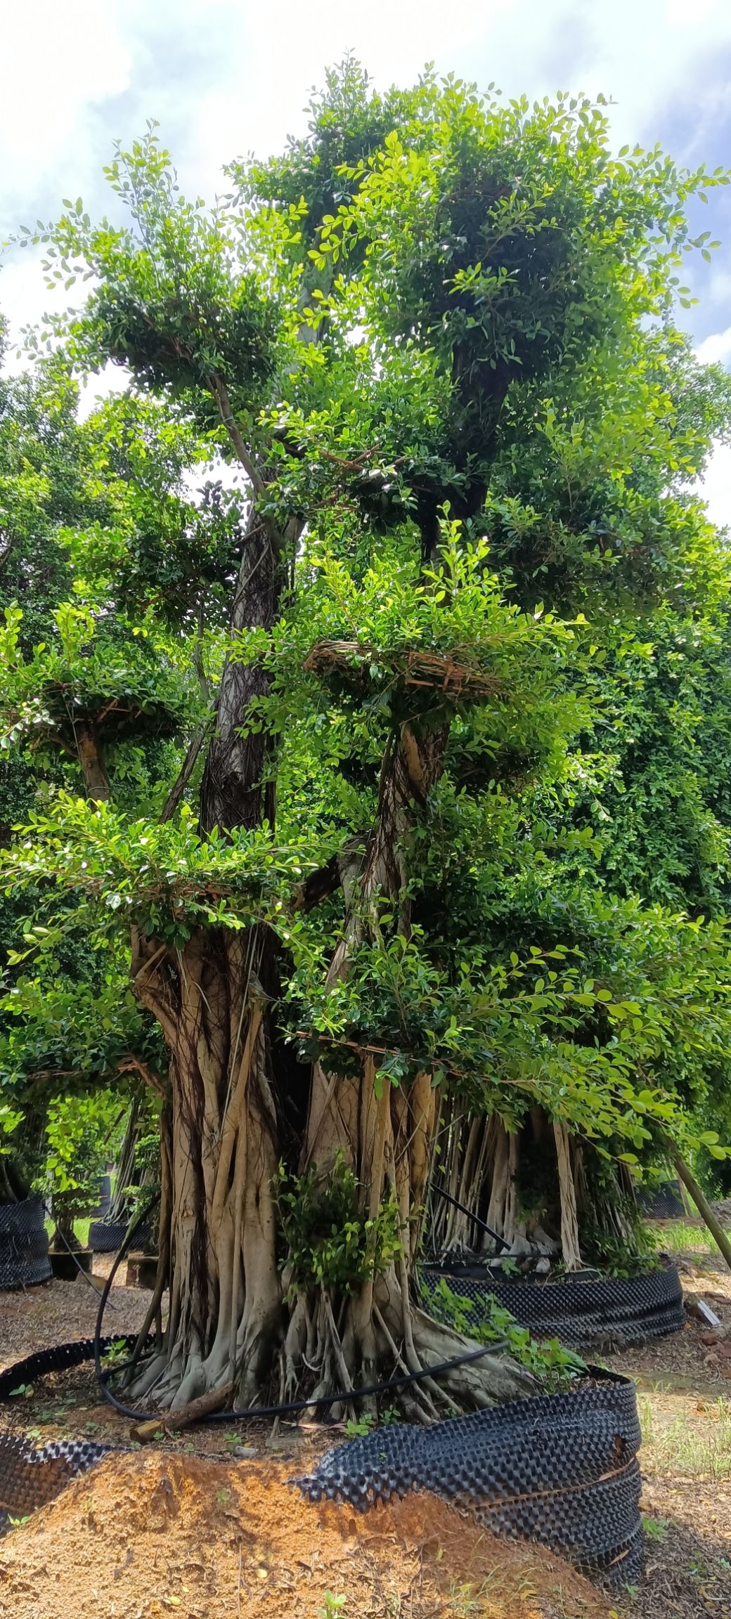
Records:
{"label": "lower right trunk of front ficus with spreading roots, below foliage", "polygon": [[300,1290],[285,1342],[290,1392],[303,1363],[318,1375],[313,1399],[368,1387],[394,1373],[415,1375],[408,1387],[395,1391],[395,1400],[405,1415],[431,1421],[455,1404],[489,1405],[532,1387],[517,1366],[491,1355],[433,1376],[442,1362],[473,1347],[415,1303],[413,1268],[436,1119],[428,1073],[410,1086],[392,1086],[384,1075],[376,1077],[374,1060],[366,1057],[357,1075],[316,1075],[308,1162],[323,1169],[324,1182],[327,1169],[344,1158],[358,1179],[360,1219],[378,1222],[391,1206],[399,1251],[374,1266],[355,1294],[332,1285]]}

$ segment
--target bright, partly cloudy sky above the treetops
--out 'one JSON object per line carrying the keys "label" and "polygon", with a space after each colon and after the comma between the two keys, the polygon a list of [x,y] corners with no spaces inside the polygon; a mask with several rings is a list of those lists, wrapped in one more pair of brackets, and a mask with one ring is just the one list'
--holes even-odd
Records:
{"label": "bright, partly cloudy sky above the treetops", "polygon": [[[112,144],[160,125],[182,188],[212,198],[222,165],[266,157],[306,128],[326,66],[350,50],[379,89],[425,63],[504,96],[611,97],[616,146],[660,144],[689,167],[731,164],[731,0],[32,0],[3,15],[0,241],[83,196],[102,212]],[[731,366],[731,186],[695,202],[721,248],[686,280],[681,311],[703,359]],[[39,257],[0,259],[0,309],[18,337],[50,304]],[[731,450],[703,495],[731,525]]]}

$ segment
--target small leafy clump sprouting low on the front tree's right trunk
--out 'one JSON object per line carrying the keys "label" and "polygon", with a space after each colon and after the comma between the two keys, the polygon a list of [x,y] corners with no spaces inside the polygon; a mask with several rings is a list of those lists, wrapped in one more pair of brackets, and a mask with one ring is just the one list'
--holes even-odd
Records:
{"label": "small leafy clump sprouting low on the front tree's right trunk", "polygon": [[326,1177],[316,1164],[301,1175],[289,1175],[280,1166],[276,1192],[292,1289],[321,1285],[353,1294],[400,1253],[395,1203],[381,1203],[376,1217],[368,1217],[357,1175],[342,1154]]}

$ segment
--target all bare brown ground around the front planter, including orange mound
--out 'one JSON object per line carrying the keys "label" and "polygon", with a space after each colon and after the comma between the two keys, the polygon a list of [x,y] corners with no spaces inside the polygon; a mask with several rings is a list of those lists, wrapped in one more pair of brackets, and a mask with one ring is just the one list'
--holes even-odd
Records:
{"label": "all bare brown ground around the front planter, including orange mound", "polygon": [[[313,1507],[287,1478],[342,1430],[222,1425],[109,1457],[13,1530],[0,1543],[0,1619],[319,1619],[327,1591],[347,1598],[332,1619],[731,1619],[731,1274],[712,1261],[681,1261],[681,1274],[721,1318],[718,1342],[689,1319],[603,1357],[637,1379],[645,1428],[640,1590],[608,1598],[559,1557],[496,1541],[426,1494],[365,1515]],[[104,1329],[139,1328],[147,1300],[115,1285]],[[0,1370],[91,1336],[96,1311],[81,1279],[0,1295]],[[37,1443],[130,1436],[89,1366],[39,1381],[0,1426]]]}

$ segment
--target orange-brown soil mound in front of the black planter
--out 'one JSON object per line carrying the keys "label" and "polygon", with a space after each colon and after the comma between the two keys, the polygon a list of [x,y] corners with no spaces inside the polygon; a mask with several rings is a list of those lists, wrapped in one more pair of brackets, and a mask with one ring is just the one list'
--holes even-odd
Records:
{"label": "orange-brown soil mound in front of the black planter", "polygon": [[[559,1557],[430,1494],[313,1506],[287,1467],[105,1457],[0,1546],[2,1619],[606,1619]],[[470,1606],[475,1603],[475,1606]]]}

